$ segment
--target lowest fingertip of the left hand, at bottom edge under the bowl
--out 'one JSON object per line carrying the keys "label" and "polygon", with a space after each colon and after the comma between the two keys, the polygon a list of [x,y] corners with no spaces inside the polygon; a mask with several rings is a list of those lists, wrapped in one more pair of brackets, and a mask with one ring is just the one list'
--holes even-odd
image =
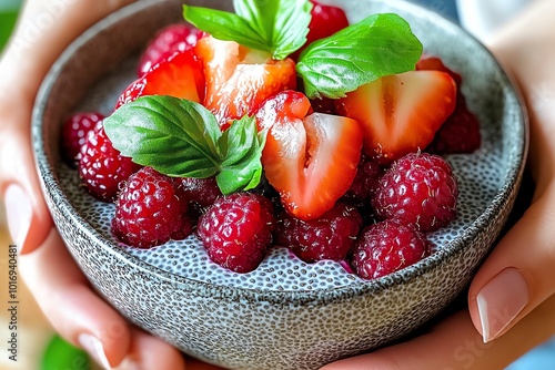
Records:
{"label": "lowest fingertip of the left hand, at bottom edge under the bowl", "polygon": [[[185,361],[175,348],[147,332],[132,328],[131,347],[125,360],[118,369],[182,370]],[[186,367],[188,370],[200,370]]]}

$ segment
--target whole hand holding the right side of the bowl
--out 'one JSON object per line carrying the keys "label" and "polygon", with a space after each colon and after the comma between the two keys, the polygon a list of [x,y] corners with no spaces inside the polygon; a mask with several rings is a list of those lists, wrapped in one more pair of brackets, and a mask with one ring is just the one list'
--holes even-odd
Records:
{"label": "whole hand holding the right side of the bowl", "polygon": [[555,1],[536,1],[490,43],[529,109],[535,192],[473,279],[468,311],[416,339],[323,369],[502,369],[555,333],[554,12]]}

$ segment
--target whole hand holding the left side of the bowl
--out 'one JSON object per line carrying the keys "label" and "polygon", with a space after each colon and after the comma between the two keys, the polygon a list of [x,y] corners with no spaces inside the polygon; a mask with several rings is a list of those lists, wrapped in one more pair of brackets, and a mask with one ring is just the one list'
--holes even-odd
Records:
{"label": "whole hand holding the left side of the bowl", "polygon": [[105,368],[179,370],[185,364],[176,349],[131,327],[91,289],[53,227],[30,142],[34,96],[50,65],[89,25],[129,2],[26,2],[18,30],[0,60],[0,196],[20,248],[20,274],[65,340],[85,349]]}

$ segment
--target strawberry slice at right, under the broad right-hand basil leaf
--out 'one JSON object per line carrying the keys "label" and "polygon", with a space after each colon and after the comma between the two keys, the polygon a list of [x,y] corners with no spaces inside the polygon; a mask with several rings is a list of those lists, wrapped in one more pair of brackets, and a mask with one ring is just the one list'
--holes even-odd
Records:
{"label": "strawberry slice at right, under the broad right-hand basil leaf", "polygon": [[424,150],[453,113],[456,85],[440,71],[389,75],[337,101],[337,112],[364,126],[364,152],[381,164]]}

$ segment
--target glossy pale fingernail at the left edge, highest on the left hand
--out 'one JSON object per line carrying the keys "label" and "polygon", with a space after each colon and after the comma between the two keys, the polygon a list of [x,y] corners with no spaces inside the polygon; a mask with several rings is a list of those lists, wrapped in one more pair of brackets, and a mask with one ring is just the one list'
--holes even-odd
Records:
{"label": "glossy pale fingernail at the left edge, highest on the left hand", "polygon": [[18,249],[21,250],[26,243],[33,209],[31,199],[19,185],[10,185],[6,191],[6,213],[8,214],[8,228],[12,241],[16,243]]}

